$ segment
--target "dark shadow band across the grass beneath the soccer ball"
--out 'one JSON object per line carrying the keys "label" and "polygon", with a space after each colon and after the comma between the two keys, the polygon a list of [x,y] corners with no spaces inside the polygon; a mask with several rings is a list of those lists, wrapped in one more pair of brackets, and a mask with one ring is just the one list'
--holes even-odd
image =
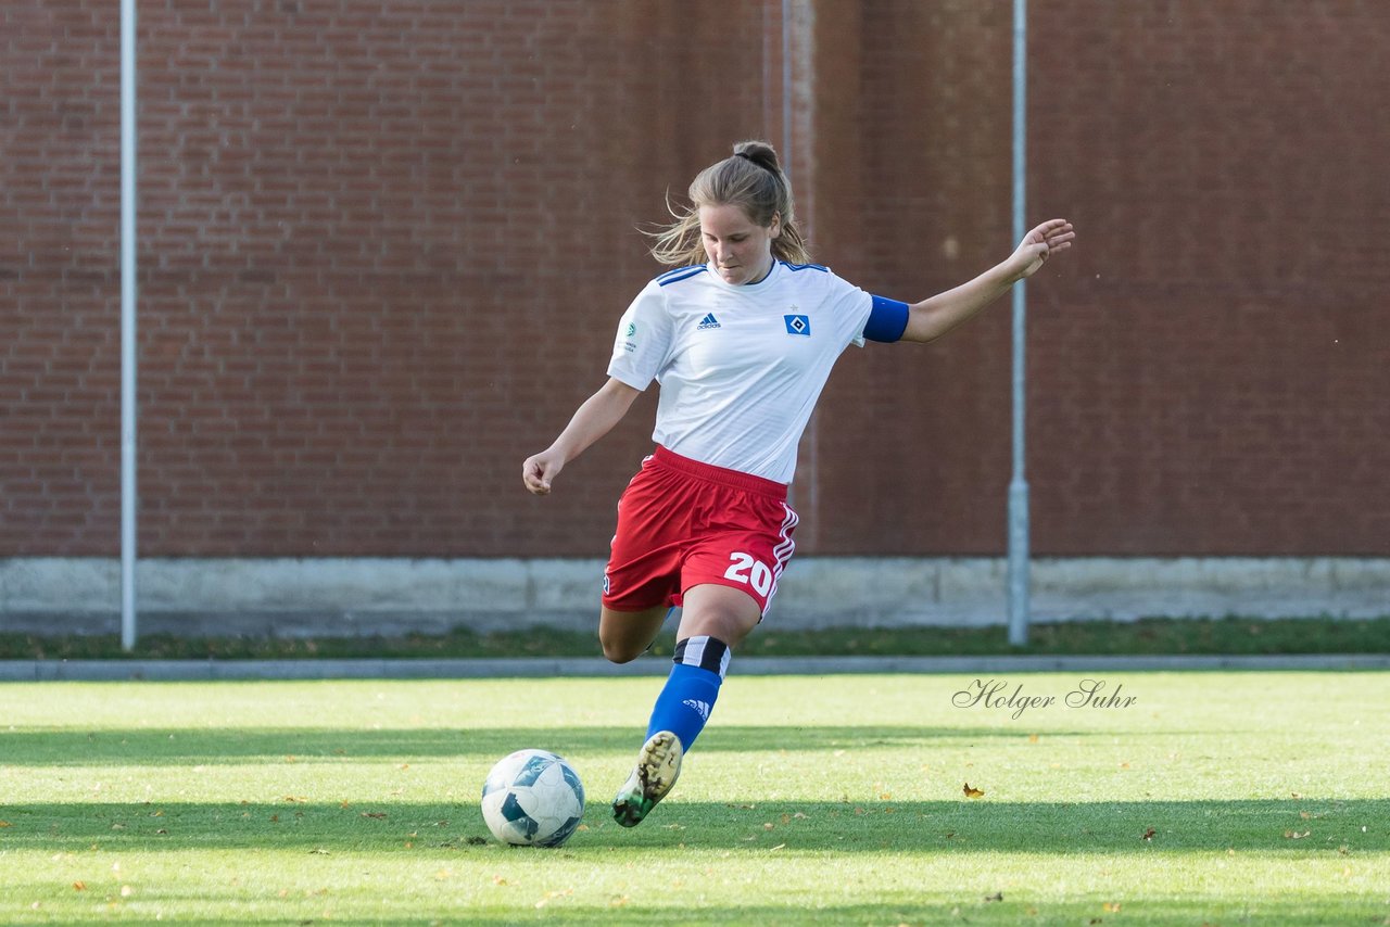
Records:
{"label": "dark shadow band across the grass beneath the soccer ball", "polygon": [[[467,803],[32,803],[0,809],[0,851],[260,849],[304,853],[539,853],[496,845]],[[1390,851],[1390,799],[1191,802],[681,802],[632,830],[591,796],[587,830],[559,851],[1327,853]],[[769,827],[769,824],[771,827]],[[1362,830],[1365,828],[1365,830]],[[595,856],[595,860],[600,860]]]}

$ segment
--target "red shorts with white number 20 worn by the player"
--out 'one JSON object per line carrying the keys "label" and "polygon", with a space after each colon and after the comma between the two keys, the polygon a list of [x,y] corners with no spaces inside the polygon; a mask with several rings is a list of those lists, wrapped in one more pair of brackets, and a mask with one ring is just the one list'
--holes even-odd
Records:
{"label": "red shorts with white number 20 worn by the player", "polygon": [[617,503],[603,605],[681,605],[702,582],[742,589],[767,612],[796,545],[787,486],[657,446]]}

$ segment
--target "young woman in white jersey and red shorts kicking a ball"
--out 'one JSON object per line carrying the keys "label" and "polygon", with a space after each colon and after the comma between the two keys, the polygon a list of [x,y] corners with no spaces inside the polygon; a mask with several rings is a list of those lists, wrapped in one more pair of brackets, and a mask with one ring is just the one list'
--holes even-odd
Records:
{"label": "young woman in white jersey and red shorts kicking a ball", "polygon": [[674,667],[613,801],[624,827],[676,784],[730,653],[777,591],[795,548],[787,485],[796,445],[835,359],[866,339],[941,338],[1074,238],[1065,220],[1044,222],[1004,263],[909,306],[809,263],[770,145],[735,145],[733,157],[701,171],[689,199],[652,247],[677,270],[648,284],[623,314],[607,382],[521,470],[527,489],[549,493],[569,461],[653,379],[660,384],[656,450],[619,500],[599,613],[603,655],[627,663],[681,606]]}

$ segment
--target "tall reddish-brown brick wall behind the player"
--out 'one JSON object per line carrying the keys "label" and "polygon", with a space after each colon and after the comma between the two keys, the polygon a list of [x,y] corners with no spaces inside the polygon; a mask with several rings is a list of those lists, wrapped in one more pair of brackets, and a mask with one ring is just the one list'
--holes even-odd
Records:
{"label": "tall reddish-brown brick wall behind the player", "polygon": [[[866,288],[1002,259],[1011,7],[142,3],[142,555],[600,556],[652,397],[518,471],[659,270],[634,227],[767,136]],[[1029,211],[1083,235],[1029,286],[1036,550],[1390,553],[1390,8],[1030,7]],[[117,4],[15,0],[0,54],[0,556],[110,556]],[[803,552],[1004,549],[1008,315],[851,349]]]}

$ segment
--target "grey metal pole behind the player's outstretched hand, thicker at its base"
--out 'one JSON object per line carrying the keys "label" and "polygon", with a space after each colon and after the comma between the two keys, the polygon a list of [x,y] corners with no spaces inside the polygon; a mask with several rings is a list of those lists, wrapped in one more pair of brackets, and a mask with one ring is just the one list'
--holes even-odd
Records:
{"label": "grey metal pole behind the player's outstretched hand, thicker at its base", "polygon": [[[1013,0],[1013,240],[1023,240],[1027,142],[1027,0]],[[1029,484],[1024,463],[1024,281],[1013,285],[1013,478],[1009,482],[1009,643],[1029,642]]]}

